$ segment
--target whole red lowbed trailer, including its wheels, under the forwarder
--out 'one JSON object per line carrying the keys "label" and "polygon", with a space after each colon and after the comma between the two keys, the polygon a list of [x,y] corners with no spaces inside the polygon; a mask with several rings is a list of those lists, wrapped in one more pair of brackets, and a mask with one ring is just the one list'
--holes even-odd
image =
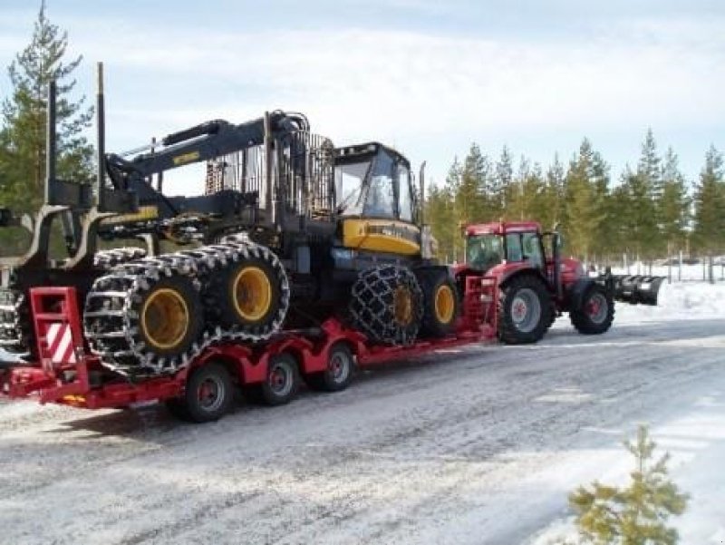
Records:
{"label": "whole red lowbed trailer, including its wheels, under the forwarder", "polygon": [[282,331],[258,345],[211,345],[176,374],[144,379],[111,372],[89,351],[73,287],[35,287],[30,297],[38,361],[0,364],[0,393],[88,409],[162,401],[179,418],[216,420],[229,410],[235,387],[265,404],[285,404],[303,378],[315,390],[342,390],[355,364],[384,364],[495,339],[496,278],[468,276],[462,288],[456,332],[447,337],[372,345],[359,331],[329,318],[318,328]]}

